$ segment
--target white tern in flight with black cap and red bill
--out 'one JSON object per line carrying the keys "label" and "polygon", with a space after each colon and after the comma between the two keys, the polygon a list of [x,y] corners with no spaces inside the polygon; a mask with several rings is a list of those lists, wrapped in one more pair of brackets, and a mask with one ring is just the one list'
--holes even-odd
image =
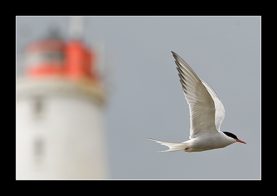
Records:
{"label": "white tern in flight with black cap and red bill", "polygon": [[178,150],[201,152],[224,148],[235,142],[246,144],[244,141],[239,140],[235,134],[220,131],[225,110],[215,91],[209,84],[199,79],[191,67],[179,55],[175,52],[172,52],[172,54],[175,58],[182,89],[190,108],[190,140],[182,143],[170,143],[150,138],[147,139],[169,147],[168,150],[160,152]]}

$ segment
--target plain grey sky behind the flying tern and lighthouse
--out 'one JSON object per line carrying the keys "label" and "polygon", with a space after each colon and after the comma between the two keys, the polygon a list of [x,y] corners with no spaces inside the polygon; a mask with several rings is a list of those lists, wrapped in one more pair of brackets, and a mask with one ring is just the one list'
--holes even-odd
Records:
{"label": "plain grey sky behind the flying tern and lighthouse", "polygon": [[[68,17],[17,17],[17,53]],[[83,40],[114,57],[107,80],[107,149],[112,179],[260,179],[260,17],[85,17]],[[217,93],[221,131],[247,145],[157,153],[189,139],[189,108],[171,51]],[[22,68],[17,68],[18,75]]]}

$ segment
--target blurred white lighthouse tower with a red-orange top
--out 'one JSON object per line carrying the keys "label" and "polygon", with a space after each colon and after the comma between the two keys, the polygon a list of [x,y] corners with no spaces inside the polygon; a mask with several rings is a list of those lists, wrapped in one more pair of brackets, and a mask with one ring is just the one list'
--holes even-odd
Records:
{"label": "blurred white lighthouse tower with a red-orange top", "polygon": [[16,179],[109,178],[106,97],[79,19],[72,18],[71,40],[26,46],[26,76],[16,88]]}

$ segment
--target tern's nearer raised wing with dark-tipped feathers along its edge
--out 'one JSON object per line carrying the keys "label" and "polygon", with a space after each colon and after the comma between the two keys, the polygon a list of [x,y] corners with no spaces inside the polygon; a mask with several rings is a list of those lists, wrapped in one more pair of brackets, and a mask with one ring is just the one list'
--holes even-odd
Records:
{"label": "tern's nearer raised wing with dark-tipped feathers along its edge", "polygon": [[[210,93],[191,67],[176,53],[172,52],[172,54],[175,58],[180,82],[190,108],[190,139],[217,132],[215,126],[215,104]],[[207,86],[210,87],[209,85]],[[212,90],[211,92],[214,91]]]}

